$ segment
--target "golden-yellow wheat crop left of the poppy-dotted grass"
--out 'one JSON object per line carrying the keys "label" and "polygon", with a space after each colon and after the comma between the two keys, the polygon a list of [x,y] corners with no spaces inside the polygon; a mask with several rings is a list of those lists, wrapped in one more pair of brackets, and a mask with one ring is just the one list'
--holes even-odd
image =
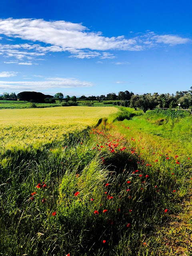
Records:
{"label": "golden-yellow wheat crop left of the poppy-dotted grass", "polygon": [[63,134],[95,125],[114,107],[55,107],[0,110],[0,148],[39,148]]}

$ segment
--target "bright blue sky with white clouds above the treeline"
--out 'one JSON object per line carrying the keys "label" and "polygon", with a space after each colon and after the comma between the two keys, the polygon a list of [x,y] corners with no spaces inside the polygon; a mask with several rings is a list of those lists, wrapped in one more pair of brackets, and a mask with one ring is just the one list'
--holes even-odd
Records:
{"label": "bright blue sky with white clouds above the treeline", "polygon": [[2,0],[0,94],[192,86],[192,2]]}

